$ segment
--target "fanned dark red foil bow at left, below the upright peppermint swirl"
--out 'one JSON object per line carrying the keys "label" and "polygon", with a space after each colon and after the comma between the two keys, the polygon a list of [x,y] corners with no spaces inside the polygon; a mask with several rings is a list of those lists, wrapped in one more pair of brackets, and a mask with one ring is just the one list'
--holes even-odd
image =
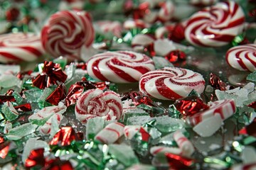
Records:
{"label": "fanned dark red foil bow at left, below the upright peppermint swirl", "polygon": [[44,62],[43,72],[33,79],[33,85],[39,89],[45,89],[46,87],[58,84],[59,82],[65,82],[67,75],[60,68],[60,64],[53,62]]}

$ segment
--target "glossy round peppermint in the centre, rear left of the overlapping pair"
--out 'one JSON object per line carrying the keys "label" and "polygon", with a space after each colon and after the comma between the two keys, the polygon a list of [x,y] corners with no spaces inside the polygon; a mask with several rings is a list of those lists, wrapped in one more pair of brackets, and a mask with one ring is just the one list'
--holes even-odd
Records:
{"label": "glossy round peppermint in the centre, rear left of the overlapping pair", "polygon": [[146,55],[132,51],[104,52],[87,62],[90,77],[114,83],[132,83],[154,70],[154,62]]}

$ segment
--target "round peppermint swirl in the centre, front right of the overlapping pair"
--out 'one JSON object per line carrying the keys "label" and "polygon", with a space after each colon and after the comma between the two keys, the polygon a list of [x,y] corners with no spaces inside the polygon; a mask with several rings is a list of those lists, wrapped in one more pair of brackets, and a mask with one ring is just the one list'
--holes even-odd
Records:
{"label": "round peppermint swirl in the centre, front right of the overlapping pair", "polygon": [[142,93],[162,100],[186,97],[193,89],[201,94],[204,88],[205,80],[201,74],[178,67],[147,72],[139,79]]}

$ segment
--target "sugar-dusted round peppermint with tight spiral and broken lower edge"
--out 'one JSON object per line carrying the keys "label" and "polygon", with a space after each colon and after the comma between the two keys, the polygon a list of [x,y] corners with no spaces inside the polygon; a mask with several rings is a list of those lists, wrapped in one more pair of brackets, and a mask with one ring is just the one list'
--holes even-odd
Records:
{"label": "sugar-dusted round peppermint with tight spiral and broken lower edge", "polygon": [[100,89],[85,91],[75,104],[75,116],[81,123],[90,118],[105,117],[107,120],[121,118],[122,101],[114,91]]}

